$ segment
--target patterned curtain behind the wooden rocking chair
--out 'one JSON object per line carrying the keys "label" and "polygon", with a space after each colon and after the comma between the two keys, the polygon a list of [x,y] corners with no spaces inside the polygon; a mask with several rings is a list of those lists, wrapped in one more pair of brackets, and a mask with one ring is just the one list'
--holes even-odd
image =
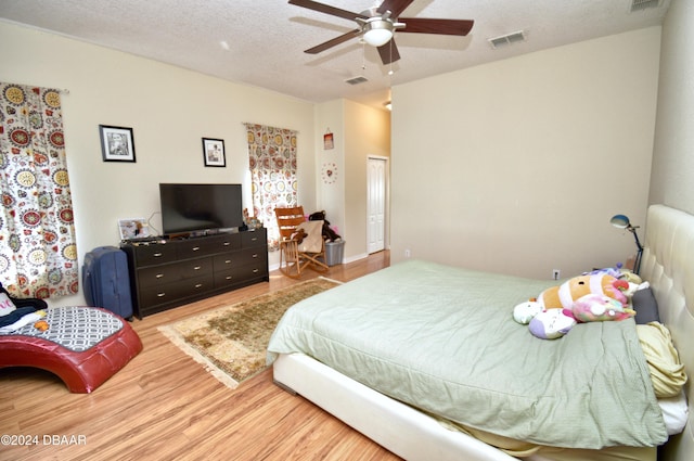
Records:
{"label": "patterned curtain behind the wooden rocking chair", "polygon": [[253,214],[268,230],[268,247],[279,247],[275,206],[296,206],[296,135],[284,128],[245,124]]}

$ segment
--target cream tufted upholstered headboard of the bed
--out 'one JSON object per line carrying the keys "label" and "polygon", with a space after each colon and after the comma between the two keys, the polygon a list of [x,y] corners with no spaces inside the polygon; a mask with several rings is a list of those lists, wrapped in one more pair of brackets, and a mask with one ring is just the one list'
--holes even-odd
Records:
{"label": "cream tufted upholstered headboard of the bed", "polygon": [[665,460],[694,459],[694,216],[665,205],[651,205],[640,276],[651,283],[660,321],[684,363],[690,420],[684,432],[665,447]]}

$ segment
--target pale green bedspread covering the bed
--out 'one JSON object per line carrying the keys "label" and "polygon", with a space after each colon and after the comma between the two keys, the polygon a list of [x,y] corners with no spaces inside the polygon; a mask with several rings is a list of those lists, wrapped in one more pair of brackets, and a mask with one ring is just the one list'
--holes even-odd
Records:
{"label": "pale green bedspread covering the bed", "polygon": [[633,320],[539,340],[513,307],[552,281],[407,261],[308,298],[268,346],[304,353],[395,399],[540,445],[667,440]]}

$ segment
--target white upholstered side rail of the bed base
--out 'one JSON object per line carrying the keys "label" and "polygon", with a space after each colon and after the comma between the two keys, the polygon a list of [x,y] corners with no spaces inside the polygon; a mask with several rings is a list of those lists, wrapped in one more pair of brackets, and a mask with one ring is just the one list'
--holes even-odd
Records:
{"label": "white upholstered side rail of the bed base", "polygon": [[305,355],[280,355],[273,373],[282,388],[299,394],[406,460],[516,460]]}

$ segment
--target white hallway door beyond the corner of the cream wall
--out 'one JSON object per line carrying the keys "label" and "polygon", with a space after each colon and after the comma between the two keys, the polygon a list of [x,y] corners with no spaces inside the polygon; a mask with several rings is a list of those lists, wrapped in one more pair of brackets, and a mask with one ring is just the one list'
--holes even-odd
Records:
{"label": "white hallway door beyond the corner of the cream wall", "polygon": [[388,209],[388,157],[369,156],[367,172],[367,249],[369,254],[386,247]]}

